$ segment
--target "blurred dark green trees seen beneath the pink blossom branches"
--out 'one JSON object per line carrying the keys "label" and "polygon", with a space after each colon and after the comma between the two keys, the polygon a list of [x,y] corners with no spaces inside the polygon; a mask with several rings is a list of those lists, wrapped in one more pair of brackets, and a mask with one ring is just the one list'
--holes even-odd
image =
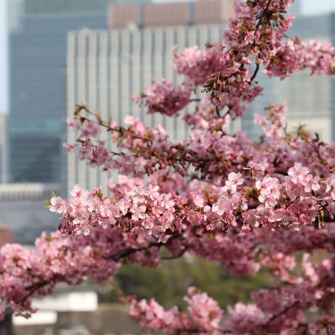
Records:
{"label": "blurred dark green trees seen beneath the pink blossom branches", "polygon": [[[196,286],[206,291],[222,308],[238,301],[248,302],[250,293],[270,286],[269,273],[236,277],[226,273],[220,265],[189,255],[175,260],[163,260],[158,269],[142,268],[138,264],[123,265],[114,276],[114,284],[126,295],[150,299],[166,308],[177,305],[184,309],[183,296],[187,287]],[[115,302],[114,290],[100,296],[101,302]]]}

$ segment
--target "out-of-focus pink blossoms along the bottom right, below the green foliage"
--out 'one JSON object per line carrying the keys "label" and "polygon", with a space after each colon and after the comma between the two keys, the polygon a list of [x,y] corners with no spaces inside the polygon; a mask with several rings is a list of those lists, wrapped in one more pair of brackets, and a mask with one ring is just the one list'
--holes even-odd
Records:
{"label": "out-of-focus pink blossoms along the bottom right, below the green foliage", "polygon": [[[313,306],[322,306],[326,299],[334,299],[334,259],[318,264],[308,262],[308,254],[303,257],[303,274],[292,276],[290,286],[269,291],[262,289],[252,294],[253,303],[237,303],[228,307],[228,318],[222,320],[222,311],[206,293],[189,289],[188,314],[179,312],[177,307],[170,310],[158,305],[154,300],[131,304],[130,315],[145,331],[176,334],[182,331],[203,334],[322,334],[334,330],[334,316],[323,316],[319,321],[304,322],[301,314]],[[331,305],[326,304],[328,307]]]}

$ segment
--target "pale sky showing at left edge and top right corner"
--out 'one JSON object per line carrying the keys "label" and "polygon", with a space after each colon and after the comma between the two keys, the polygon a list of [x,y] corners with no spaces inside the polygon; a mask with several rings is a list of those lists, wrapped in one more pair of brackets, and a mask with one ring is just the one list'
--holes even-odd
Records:
{"label": "pale sky showing at left edge and top right corner", "polygon": [[[8,110],[7,1],[0,0],[0,112]],[[176,2],[176,0],[155,0],[155,2],[162,1]],[[335,10],[335,0],[300,0],[300,2],[303,14],[307,15]]]}

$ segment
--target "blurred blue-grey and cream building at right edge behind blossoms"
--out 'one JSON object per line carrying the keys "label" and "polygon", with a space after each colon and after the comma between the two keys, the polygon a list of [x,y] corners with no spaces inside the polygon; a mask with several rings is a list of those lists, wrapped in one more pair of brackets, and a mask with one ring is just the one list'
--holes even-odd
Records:
{"label": "blurred blue-grey and cream building at right edge behind blossoms", "polygon": [[[290,37],[299,36],[304,41],[331,41],[335,26],[334,14],[298,16],[288,31]],[[333,41],[334,45],[334,41]],[[263,96],[258,97],[242,118],[242,129],[256,138],[262,133],[254,123],[254,115],[265,114],[264,107],[287,103],[287,122],[290,129],[306,125],[318,132],[321,139],[330,143],[335,139],[334,79],[326,75],[311,77],[311,70],[295,72],[289,78],[268,78],[259,71],[256,80],[264,87]]]}

